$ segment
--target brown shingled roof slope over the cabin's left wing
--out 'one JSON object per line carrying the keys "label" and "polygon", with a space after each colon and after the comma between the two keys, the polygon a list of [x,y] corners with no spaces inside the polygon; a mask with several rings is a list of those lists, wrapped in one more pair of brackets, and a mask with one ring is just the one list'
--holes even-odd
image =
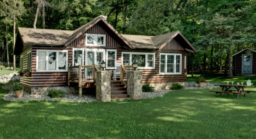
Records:
{"label": "brown shingled roof slope over the cabin's left wing", "polygon": [[24,44],[37,45],[63,45],[73,34],[72,30],[52,30],[41,28],[21,28],[18,27]]}

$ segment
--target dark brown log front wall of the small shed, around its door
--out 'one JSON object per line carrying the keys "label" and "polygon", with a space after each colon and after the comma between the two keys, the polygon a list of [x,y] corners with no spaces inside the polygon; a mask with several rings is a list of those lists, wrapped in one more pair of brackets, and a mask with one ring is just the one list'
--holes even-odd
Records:
{"label": "dark brown log front wall of the small shed, around its door", "polygon": [[[234,75],[242,75],[242,55],[246,54],[246,51],[233,56],[233,73]],[[256,74],[256,52],[252,53],[252,74]]]}

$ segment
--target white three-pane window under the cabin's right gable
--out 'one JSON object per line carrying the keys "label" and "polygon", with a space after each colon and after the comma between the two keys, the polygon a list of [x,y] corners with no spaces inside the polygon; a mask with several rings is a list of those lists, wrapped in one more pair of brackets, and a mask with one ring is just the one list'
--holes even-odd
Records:
{"label": "white three-pane window under the cabin's right gable", "polygon": [[160,53],[160,74],[181,74],[182,54]]}

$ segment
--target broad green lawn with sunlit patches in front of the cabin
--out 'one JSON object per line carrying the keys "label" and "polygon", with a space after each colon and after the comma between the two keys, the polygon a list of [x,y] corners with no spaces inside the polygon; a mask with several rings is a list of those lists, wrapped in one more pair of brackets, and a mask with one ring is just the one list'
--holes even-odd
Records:
{"label": "broad green lawn with sunlit patches in front of the cabin", "polygon": [[0,139],[254,138],[256,93],[236,99],[209,90],[172,91],[124,104],[76,104],[9,102],[3,100],[8,90],[1,89]]}

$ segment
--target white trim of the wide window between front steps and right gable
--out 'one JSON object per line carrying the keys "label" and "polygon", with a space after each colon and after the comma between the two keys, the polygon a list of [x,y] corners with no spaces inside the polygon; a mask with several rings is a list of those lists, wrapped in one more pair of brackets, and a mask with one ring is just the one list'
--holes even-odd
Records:
{"label": "white trim of the wide window between front steps and right gable", "polygon": [[[130,54],[129,63],[132,65],[132,54],[145,55],[145,67],[138,67],[138,69],[155,69],[155,53],[142,53],[142,52],[122,52],[122,64],[123,64],[123,54]],[[147,55],[153,55],[153,67],[147,67]]]}

